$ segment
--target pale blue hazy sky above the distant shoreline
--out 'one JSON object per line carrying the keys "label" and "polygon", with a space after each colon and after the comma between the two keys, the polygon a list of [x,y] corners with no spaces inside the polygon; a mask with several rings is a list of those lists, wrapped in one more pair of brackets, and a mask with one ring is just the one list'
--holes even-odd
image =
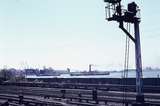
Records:
{"label": "pale blue hazy sky above the distant shoreline", "polygon": [[[133,0],[123,0],[126,4]],[[143,67],[160,67],[160,1],[141,9]],[[0,68],[124,68],[126,35],[105,20],[103,0],[0,0]],[[129,68],[135,67],[130,42]]]}

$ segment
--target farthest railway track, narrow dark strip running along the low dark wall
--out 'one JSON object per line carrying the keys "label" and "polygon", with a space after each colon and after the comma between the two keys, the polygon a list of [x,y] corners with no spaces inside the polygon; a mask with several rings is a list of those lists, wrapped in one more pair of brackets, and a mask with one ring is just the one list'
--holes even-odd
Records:
{"label": "farthest railway track, narrow dark strip running along the low dark wall", "polygon": [[[5,82],[0,85],[12,85],[12,86],[22,86],[22,87],[43,87],[43,88],[63,88],[63,89],[85,89],[92,90],[98,89],[103,91],[125,91],[135,92],[135,85],[121,85],[121,84],[88,84],[88,83],[47,83],[47,82],[23,82],[23,83],[13,83]],[[160,86],[144,85],[144,93],[157,93],[160,92]]]}

